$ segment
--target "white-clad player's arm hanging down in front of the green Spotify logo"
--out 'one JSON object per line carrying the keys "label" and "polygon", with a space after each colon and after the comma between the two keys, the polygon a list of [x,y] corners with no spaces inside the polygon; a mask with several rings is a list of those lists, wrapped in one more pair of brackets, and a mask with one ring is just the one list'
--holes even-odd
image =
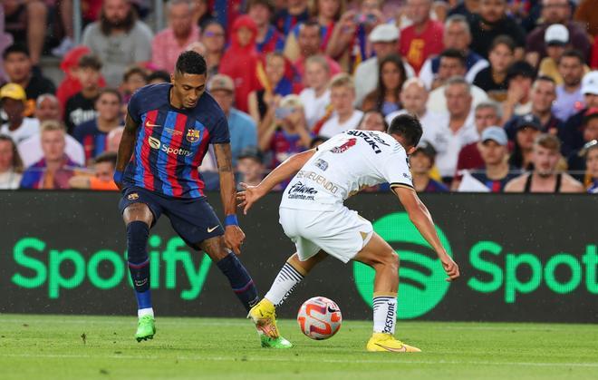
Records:
{"label": "white-clad player's arm hanging down in front of the green Spotify logo", "polygon": [[449,275],[447,281],[457,279],[459,277],[458,265],[452,258],[450,258],[447,250],[442,247],[442,243],[440,243],[439,235],[434,228],[434,222],[429,214],[429,210],[420,200],[418,194],[415,190],[407,187],[394,187],[392,190],[397,194],[397,197],[399,197],[400,203],[402,203],[409,214],[411,222],[420,231],[421,236],[423,236],[423,238],[429,242],[429,245],[436,251],[436,254],[442,262],[442,267],[447,272],[447,275]]}

